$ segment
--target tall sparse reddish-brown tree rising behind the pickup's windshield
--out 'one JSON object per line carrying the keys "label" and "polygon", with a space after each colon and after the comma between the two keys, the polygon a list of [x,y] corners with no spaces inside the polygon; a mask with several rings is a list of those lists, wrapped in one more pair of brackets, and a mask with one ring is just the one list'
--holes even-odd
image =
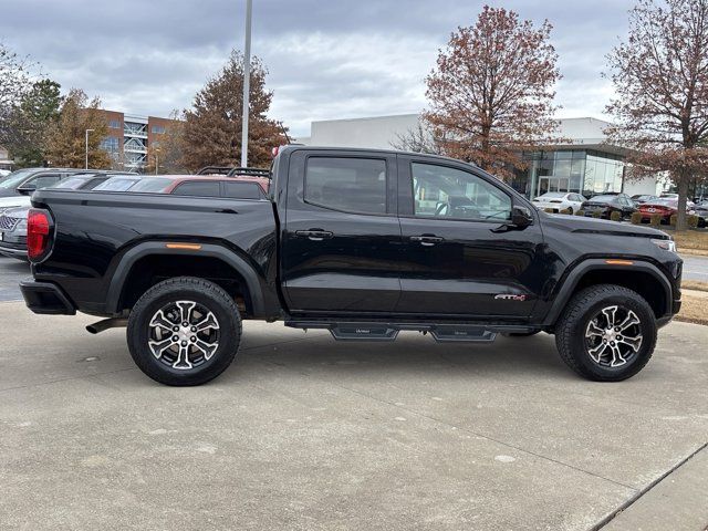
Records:
{"label": "tall sparse reddish-brown tree rising behind the pickup's windshield", "polygon": [[551,29],[485,6],[473,27],[452,33],[426,80],[424,115],[447,155],[510,177],[527,167],[523,150],[560,140]]}

